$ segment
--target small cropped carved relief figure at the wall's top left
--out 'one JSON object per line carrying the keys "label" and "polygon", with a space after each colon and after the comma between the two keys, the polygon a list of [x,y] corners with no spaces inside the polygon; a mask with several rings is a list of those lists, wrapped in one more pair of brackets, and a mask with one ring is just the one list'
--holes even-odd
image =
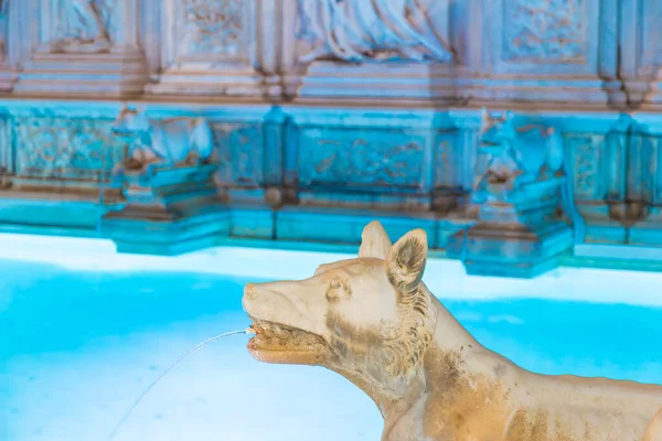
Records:
{"label": "small cropped carved relief figure at the wall's top left", "polygon": [[94,0],[60,0],[54,17],[56,37],[52,52],[102,53],[110,51],[110,39]]}

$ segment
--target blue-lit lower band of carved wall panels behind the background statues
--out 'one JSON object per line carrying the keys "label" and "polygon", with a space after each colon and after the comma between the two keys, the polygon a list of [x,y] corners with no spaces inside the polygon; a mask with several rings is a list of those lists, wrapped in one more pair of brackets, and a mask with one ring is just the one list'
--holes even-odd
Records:
{"label": "blue-lit lower band of carved wall panels behind the background statues", "polygon": [[[352,247],[363,226],[376,218],[394,239],[408,229],[423,227],[433,252],[444,255],[449,237],[473,224],[471,215],[452,213],[468,212],[469,189],[483,166],[474,158],[476,133],[481,123],[478,108],[218,103],[224,104],[131,101],[140,104],[141,110],[157,120],[204,117],[210,121],[222,173],[216,173],[216,182],[209,182],[202,190],[218,196],[222,203],[217,217],[207,218],[210,226],[177,220],[168,213],[160,214],[161,223],[138,212],[134,212],[134,223],[115,219],[116,225],[129,230],[126,236],[116,236],[121,250],[178,254],[237,238],[299,244],[297,247],[332,243]],[[3,138],[8,142],[0,144],[0,170],[8,185],[13,185],[0,192],[0,230],[108,237],[104,228],[99,229],[102,218],[113,218],[116,214],[109,214],[110,211],[125,207],[122,197],[107,182],[110,168],[120,160],[121,146],[113,144],[117,154],[108,163],[102,164],[98,158],[110,146],[108,140],[113,138],[106,135],[120,111],[119,104],[103,99],[7,98],[0,106],[6,111],[0,135],[8,137]],[[628,244],[636,239],[628,222],[637,213],[628,204],[629,197],[640,196],[628,189],[641,192],[641,197],[650,196],[644,190],[654,190],[643,161],[650,158],[647,154],[651,149],[658,148],[653,141],[662,133],[660,115],[638,111],[623,116],[618,110],[569,111],[551,106],[545,106],[545,110],[526,106],[517,109],[513,111],[516,125],[553,126],[564,135],[569,175],[575,180],[579,211],[588,224],[585,240]],[[638,130],[631,130],[632,127]],[[67,150],[71,159],[54,164],[44,159],[52,157],[47,136],[62,129],[66,136],[58,138],[56,147],[74,147]],[[309,131],[301,136],[301,130]],[[360,137],[365,142],[356,148],[352,141]],[[637,137],[642,137],[641,146],[629,142],[637,141]],[[392,154],[392,147],[407,144],[414,138],[419,144],[416,155]],[[325,143],[320,144],[319,140]],[[638,149],[638,155],[628,157],[626,148]],[[356,159],[352,157],[356,151],[370,154]],[[29,157],[24,152],[38,154]],[[324,154],[313,154],[317,152]],[[333,168],[317,171],[323,169],[320,164],[337,158],[341,161]],[[383,172],[384,165],[371,168],[381,161],[391,166],[389,173]],[[188,178],[180,181],[183,191],[194,190]],[[154,190],[154,183],[141,192]],[[653,202],[643,198],[639,203],[645,207]],[[140,232],[156,232],[153,244]],[[662,225],[651,225],[649,237],[662,237]],[[142,248],[130,245],[136,239],[140,239],[138,244],[143,241]],[[536,265],[533,260],[530,263]]]}

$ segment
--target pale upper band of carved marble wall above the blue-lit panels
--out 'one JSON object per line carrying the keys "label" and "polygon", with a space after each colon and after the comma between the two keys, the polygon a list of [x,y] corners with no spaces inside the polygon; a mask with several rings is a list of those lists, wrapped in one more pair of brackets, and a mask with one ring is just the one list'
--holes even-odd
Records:
{"label": "pale upper band of carved marble wall above the blue-lit panels", "polygon": [[656,0],[6,0],[0,31],[23,94],[122,55],[95,92],[640,106],[662,100],[660,20]]}

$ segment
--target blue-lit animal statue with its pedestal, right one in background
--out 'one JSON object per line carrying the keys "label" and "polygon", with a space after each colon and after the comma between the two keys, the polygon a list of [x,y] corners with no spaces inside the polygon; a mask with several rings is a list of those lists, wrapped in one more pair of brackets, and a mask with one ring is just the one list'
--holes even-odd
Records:
{"label": "blue-lit animal statue with its pedestal, right one in background", "polygon": [[471,275],[532,278],[585,238],[563,137],[548,127],[516,128],[510,112],[483,118],[478,222],[449,237],[446,250]]}

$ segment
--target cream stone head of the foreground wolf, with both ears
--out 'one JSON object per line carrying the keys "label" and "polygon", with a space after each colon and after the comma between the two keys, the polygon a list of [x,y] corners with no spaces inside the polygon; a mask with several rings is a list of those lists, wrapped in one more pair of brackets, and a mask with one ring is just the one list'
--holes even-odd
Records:
{"label": "cream stone head of the foreground wolf, with both ears", "polygon": [[420,365],[436,322],[421,282],[427,250],[424,230],[392,246],[373,222],[357,258],[322,265],[306,280],[246,286],[244,309],[256,331],[250,354],[382,383],[406,378]]}

